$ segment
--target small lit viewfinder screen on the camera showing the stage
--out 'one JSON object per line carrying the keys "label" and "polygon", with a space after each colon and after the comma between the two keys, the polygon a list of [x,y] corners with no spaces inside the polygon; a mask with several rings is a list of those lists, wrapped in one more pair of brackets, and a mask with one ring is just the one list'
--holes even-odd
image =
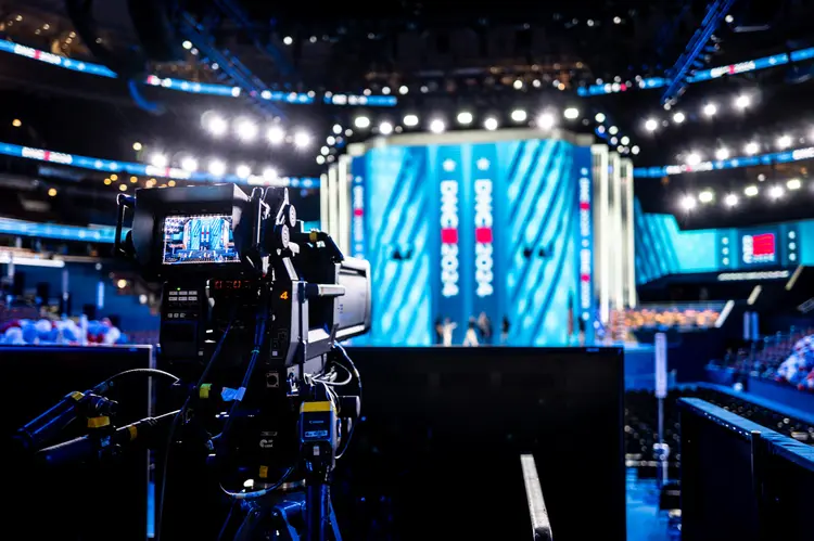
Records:
{"label": "small lit viewfinder screen on the camera showing the stage", "polygon": [[164,218],[164,265],[240,262],[231,215]]}

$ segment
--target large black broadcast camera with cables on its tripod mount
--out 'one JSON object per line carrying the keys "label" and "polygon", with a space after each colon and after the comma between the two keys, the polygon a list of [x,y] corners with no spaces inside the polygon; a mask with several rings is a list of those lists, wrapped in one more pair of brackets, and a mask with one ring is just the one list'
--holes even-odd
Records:
{"label": "large black broadcast camera with cables on its tripod mount", "polygon": [[[128,210],[132,228],[123,239]],[[21,440],[41,449],[86,416],[91,434],[38,455],[50,463],[105,456],[139,435],[163,447],[156,537],[177,453],[182,465],[205,463],[246,511],[232,525],[230,513],[218,539],[300,539],[297,530],[308,540],[340,539],[329,485],[359,418],[361,382],[339,342],[370,327],[369,263],[345,258],[327,233],[302,231],[288,190],[277,186],[122,194],[114,250],[162,284],[162,370],[147,372],[173,379],[180,408],[116,428],[103,397],[113,382],[103,382],[66,396],[21,428]]]}

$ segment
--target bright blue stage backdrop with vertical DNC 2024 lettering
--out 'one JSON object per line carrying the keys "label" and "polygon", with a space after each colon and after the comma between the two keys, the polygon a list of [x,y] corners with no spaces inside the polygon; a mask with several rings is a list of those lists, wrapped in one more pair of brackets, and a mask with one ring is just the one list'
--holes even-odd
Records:
{"label": "bright blue stage backdrop with vertical DNC 2024 lettering", "polygon": [[590,167],[588,146],[537,139],[353,158],[351,247],[373,287],[372,332],[354,344],[432,344],[446,318],[460,344],[482,312],[495,343],[506,318],[511,345],[565,344],[593,317]]}

